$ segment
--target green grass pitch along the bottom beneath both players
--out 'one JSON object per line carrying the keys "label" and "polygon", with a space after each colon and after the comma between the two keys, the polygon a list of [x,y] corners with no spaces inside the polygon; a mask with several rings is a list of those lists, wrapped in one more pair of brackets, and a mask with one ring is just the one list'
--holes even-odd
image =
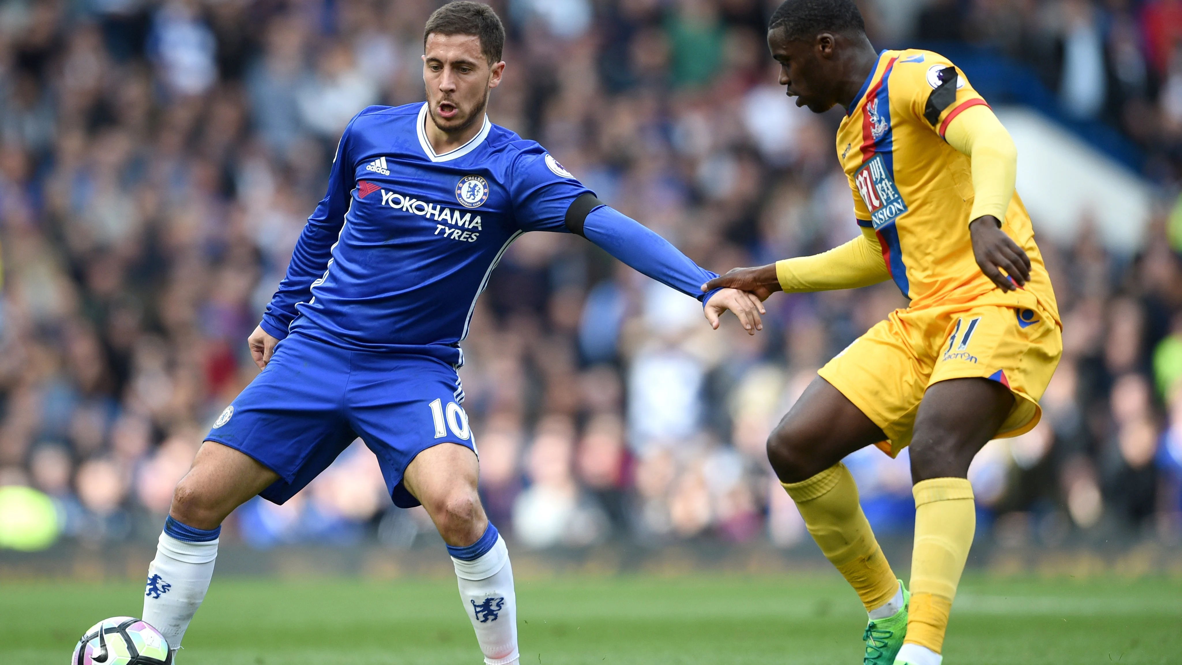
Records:
{"label": "green grass pitch along the bottom beneath both players", "polygon": [[[142,585],[5,583],[0,663],[65,665]],[[522,665],[862,663],[865,614],[834,574],[518,582]],[[450,580],[215,578],[180,665],[481,663]],[[968,576],[948,665],[1182,663],[1182,581]]]}

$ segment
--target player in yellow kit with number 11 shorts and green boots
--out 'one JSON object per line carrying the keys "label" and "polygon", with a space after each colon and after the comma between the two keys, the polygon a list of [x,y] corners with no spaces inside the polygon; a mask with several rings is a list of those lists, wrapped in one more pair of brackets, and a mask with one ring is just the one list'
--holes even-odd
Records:
{"label": "player in yellow kit with number 11 shorts and green boots", "polygon": [[[876,52],[852,0],[788,0],[768,46],[798,106],[846,117],[837,154],[860,234],[816,256],[736,268],[704,288],[853,288],[894,280],[910,299],[805,390],[767,452],[817,545],[870,620],[865,663],[939,665],[973,542],[974,455],[1033,428],[1063,351],[1059,314],[1017,151],[965,74],[930,51]],[[910,445],[916,506],[911,593],[858,504],[846,455]]]}

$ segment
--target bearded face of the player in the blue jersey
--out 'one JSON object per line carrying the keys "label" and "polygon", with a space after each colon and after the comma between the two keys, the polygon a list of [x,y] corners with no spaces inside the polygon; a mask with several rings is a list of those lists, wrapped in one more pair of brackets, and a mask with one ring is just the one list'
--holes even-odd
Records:
{"label": "bearded face of the player in the blue jersey", "polygon": [[455,133],[482,122],[488,94],[504,71],[505,63],[488,64],[474,34],[427,35],[423,82],[435,126]]}

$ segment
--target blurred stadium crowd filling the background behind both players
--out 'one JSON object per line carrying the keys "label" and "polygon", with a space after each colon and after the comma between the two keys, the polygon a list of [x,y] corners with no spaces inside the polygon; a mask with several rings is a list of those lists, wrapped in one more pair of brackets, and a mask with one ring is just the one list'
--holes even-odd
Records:
{"label": "blurred stadium crowd filling the background behind both players", "polygon": [[[704,267],[852,237],[839,115],[795,109],[764,0],[506,0],[493,122]],[[255,374],[245,339],[323,195],[339,132],[423,98],[430,0],[0,2],[0,485],[52,496],[66,537],[151,539],[217,413]],[[881,45],[988,41],[1066,109],[1122,128],[1165,193],[1182,139],[1182,2],[877,0]],[[1175,215],[1182,217],[1182,215]],[[1035,228],[1038,227],[1038,220]],[[1065,354],[1032,432],[972,470],[981,532],[1059,545],[1175,537],[1182,234],[1163,206],[1134,256],[1044,241]],[[1171,227],[1173,224],[1173,227]],[[1170,241],[1173,240],[1173,245]],[[762,333],[580,237],[527,234],[480,299],[461,370],[492,520],[524,547],[807,534],[765,441],[816,370],[905,300],[890,282],[774,295]],[[871,521],[907,533],[907,454],[849,461]],[[223,539],[255,547],[430,530],[356,443]]]}

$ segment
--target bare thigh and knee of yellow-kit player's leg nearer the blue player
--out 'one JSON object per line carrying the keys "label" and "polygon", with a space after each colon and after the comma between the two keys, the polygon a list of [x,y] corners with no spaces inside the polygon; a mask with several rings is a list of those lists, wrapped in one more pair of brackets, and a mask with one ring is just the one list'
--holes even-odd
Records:
{"label": "bare thigh and knee of yellow-kit player's leg nearer the blue player", "polygon": [[878,425],[832,384],[817,377],[772,431],[767,459],[780,481],[794,483],[884,438]]}

